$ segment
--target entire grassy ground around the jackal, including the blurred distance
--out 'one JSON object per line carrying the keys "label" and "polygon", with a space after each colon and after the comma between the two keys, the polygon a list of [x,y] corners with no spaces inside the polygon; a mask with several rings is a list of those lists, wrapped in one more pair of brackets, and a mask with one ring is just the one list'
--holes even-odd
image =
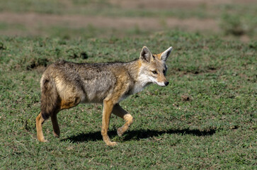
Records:
{"label": "entire grassy ground around the jackal, including the blurred distance", "polygon": [[[118,2],[1,1],[0,169],[257,169],[256,3]],[[81,23],[84,17],[131,24]],[[145,21],[159,24],[142,27]],[[198,30],[205,21],[217,26]],[[124,122],[112,115],[109,135],[118,146],[102,140],[98,104],[60,112],[61,137],[53,137],[48,120],[43,131],[50,142],[36,140],[39,81],[48,64],[127,62],[144,45],[152,52],[173,46],[170,84],[120,103],[135,122],[118,137]]]}

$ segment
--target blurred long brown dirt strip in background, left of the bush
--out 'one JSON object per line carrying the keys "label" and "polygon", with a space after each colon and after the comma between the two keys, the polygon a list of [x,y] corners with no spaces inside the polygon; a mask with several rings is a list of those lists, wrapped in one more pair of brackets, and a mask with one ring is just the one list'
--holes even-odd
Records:
{"label": "blurred long brown dirt strip in background, left of the bush", "polygon": [[[130,28],[139,28],[142,30],[162,30],[169,28],[182,28],[183,30],[212,30],[218,31],[217,21],[212,19],[198,18],[143,18],[143,17],[105,17],[105,16],[59,16],[52,14],[39,13],[0,13],[0,22],[8,24],[20,24],[25,27],[28,34],[41,35],[44,28],[51,26],[65,26],[69,28],[86,28],[94,26],[96,28],[115,28],[118,30],[127,30]],[[20,35],[21,31],[15,35]],[[13,31],[1,31],[1,34],[12,35]]]}

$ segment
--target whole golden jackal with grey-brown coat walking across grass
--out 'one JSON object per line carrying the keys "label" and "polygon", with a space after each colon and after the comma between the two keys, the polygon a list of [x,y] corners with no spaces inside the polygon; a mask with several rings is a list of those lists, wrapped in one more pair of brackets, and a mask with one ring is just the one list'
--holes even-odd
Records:
{"label": "whole golden jackal with grey-brown coat walking across grass", "polygon": [[59,61],[50,64],[40,80],[41,106],[36,118],[37,136],[46,142],[42,124],[51,118],[55,137],[59,137],[57,113],[79,103],[103,103],[101,134],[106,145],[116,145],[108,137],[110,114],[118,115],[125,124],[118,128],[121,136],[132,124],[132,115],[123,110],[119,102],[131,94],[142,91],[149,84],[167,86],[166,60],[172,47],[158,55],[152,55],[143,47],[139,59],[132,62],[77,64]]}

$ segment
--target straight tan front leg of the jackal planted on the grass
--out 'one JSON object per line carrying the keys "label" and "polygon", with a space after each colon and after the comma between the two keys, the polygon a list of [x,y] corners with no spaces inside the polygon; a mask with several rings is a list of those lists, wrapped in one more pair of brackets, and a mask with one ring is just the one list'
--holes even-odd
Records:
{"label": "straight tan front leg of the jackal planted on the grass", "polygon": [[108,128],[110,123],[110,114],[113,111],[113,101],[103,100],[103,120],[102,120],[102,130],[101,134],[103,136],[103,141],[108,146],[117,145],[117,142],[111,142],[110,137],[108,136]]}

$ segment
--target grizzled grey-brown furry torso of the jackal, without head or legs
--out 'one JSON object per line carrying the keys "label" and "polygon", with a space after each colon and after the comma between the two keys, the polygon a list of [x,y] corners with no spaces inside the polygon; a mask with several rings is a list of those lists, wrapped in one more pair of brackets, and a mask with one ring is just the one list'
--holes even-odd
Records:
{"label": "grizzled grey-brown furry torso of the jackal, without head or legs", "polygon": [[113,94],[122,72],[125,72],[123,63],[78,64],[59,61],[45,70],[40,82],[41,91],[47,79],[55,84],[60,100],[67,103],[74,100],[76,103],[101,103],[109,94]]}

